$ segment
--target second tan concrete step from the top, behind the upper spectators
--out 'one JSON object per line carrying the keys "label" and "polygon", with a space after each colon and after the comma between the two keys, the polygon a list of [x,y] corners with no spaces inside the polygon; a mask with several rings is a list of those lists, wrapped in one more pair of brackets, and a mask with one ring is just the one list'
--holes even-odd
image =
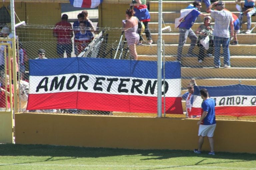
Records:
{"label": "second tan concrete step from the top, behind the upper spectators", "polygon": [[[240,12],[232,12],[236,16],[239,15]],[[162,18],[164,22],[174,22],[175,18],[180,17],[180,12],[163,12],[162,13]],[[150,12],[150,21],[151,22],[158,22],[158,12]],[[202,16],[197,17],[196,22],[203,22]],[[214,22],[214,19],[212,18],[212,22]],[[243,17],[243,22],[247,22],[246,16]],[[252,17],[252,22],[256,22],[256,17]]]}

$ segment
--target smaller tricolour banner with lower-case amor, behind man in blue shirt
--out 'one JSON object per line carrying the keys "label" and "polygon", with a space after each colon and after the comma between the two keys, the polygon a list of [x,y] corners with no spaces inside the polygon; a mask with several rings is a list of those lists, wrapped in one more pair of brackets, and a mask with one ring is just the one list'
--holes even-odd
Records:
{"label": "smaller tricolour banner with lower-case amor, behind man in blue shirt", "polygon": [[216,101],[215,114],[226,116],[256,115],[256,86],[194,86],[194,102],[190,115],[201,115],[203,99],[200,89],[206,88],[211,98]]}

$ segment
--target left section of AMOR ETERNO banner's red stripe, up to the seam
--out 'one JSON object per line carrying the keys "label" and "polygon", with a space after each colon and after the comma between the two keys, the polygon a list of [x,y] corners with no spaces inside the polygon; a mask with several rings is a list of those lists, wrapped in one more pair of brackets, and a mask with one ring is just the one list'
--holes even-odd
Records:
{"label": "left section of AMOR ETERNO banner's red stripe, up to the seam", "polygon": [[29,94],[27,110],[76,109],[77,92]]}

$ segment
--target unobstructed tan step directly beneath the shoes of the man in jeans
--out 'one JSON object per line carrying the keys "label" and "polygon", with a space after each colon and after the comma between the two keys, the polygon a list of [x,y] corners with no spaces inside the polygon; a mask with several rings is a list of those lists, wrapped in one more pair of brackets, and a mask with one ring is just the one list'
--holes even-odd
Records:
{"label": "unobstructed tan step directly beneath the shoes of the man in jeans", "polygon": [[192,68],[181,67],[181,77],[212,77],[212,78],[248,78],[254,79],[256,68],[231,67],[231,68]]}

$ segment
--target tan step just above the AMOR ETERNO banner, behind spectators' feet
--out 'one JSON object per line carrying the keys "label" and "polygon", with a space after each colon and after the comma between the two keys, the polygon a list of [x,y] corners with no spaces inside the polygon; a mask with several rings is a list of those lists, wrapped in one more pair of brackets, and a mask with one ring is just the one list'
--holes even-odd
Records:
{"label": "tan step just above the AMOR ETERNO banner, behind spectators' feet", "polygon": [[[190,67],[212,67],[214,57],[205,57],[203,63],[198,64],[197,57],[182,57],[183,65]],[[157,55],[138,55],[138,60],[157,61]],[[165,61],[175,61],[176,56],[165,56]],[[220,58],[223,63],[224,58]],[[230,56],[232,67],[256,67],[256,56]]]}

